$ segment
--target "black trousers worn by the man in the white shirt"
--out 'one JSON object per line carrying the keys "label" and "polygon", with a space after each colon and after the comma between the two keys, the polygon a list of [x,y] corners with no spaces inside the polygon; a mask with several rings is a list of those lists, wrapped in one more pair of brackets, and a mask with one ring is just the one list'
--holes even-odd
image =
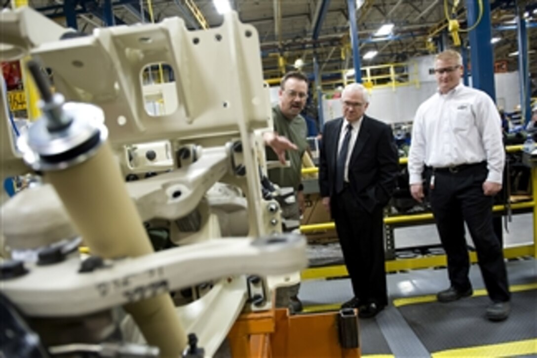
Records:
{"label": "black trousers worn by the man in the white shirt", "polygon": [[[492,224],[494,198],[485,196],[482,188],[487,174],[486,164],[468,167],[457,173],[434,171],[434,187],[429,191],[430,203],[440,241],[446,250],[451,285],[458,290],[471,287],[464,227],[466,222],[489,297],[493,302],[505,302],[510,299],[510,292],[503,248]],[[426,185],[430,185],[431,174],[426,177]]]}

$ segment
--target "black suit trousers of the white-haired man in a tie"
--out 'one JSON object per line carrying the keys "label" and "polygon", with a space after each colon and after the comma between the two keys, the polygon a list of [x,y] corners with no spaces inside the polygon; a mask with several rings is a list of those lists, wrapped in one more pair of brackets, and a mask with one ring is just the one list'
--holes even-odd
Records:
{"label": "black suit trousers of the white-haired man in a tie", "polygon": [[362,304],[386,306],[382,207],[372,213],[354,201],[349,188],[331,198],[332,217],[341,244],[354,296]]}

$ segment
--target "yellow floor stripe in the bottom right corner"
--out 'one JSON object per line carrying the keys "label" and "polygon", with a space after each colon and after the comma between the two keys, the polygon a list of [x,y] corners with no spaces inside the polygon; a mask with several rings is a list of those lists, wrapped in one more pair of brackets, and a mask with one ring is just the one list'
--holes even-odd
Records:
{"label": "yellow floor stripe in the bottom right corner", "polygon": [[441,352],[433,353],[431,357],[512,357],[535,353],[537,353],[537,339],[528,339],[490,346],[442,350]]}

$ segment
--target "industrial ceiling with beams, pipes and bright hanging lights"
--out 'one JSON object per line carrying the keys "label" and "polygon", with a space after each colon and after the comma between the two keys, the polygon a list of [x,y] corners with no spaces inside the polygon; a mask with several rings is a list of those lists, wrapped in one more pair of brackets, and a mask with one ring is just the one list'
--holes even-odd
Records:
{"label": "industrial ceiling with beams, pipes and bright hanging lights", "polygon": [[[75,5],[79,31],[89,33],[95,27],[105,26],[105,0],[65,1]],[[323,74],[353,67],[347,0],[230,0],[230,3],[242,22],[257,28],[265,78],[278,78],[282,70],[292,69],[297,59],[304,62],[304,71],[313,73],[314,54]],[[356,18],[360,54],[378,52],[370,60],[362,59],[362,67],[404,62],[436,53],[442,47],[452,47],[444,6],[447,4],[451,13],[453,3],[453,0],[359,0]],[[535,0],[490,0],[492,37],[499,38],[492,45],[494,60],[503,63],[507,70],[518,69],[519,59],[514,54],[518,49],[517,4],[519,13],[526,14],[529,71],[535,78]],[[61,0],[30,0],[30,6],[65,25]],[[191,29],[218,26],[222,22],[213,0],[112,0],[112,8],[115,24],[150,22],[151,17],[158,22],[172,16],[182,17]],[[466,1],[460,1],[453,12],[462,29],[467,28],[466,10]],[[387,23],[394,24],[392,33],[375,37],[379,27]],[[460,36],[463,46],[468,44],[468,34],[461,32]]]}

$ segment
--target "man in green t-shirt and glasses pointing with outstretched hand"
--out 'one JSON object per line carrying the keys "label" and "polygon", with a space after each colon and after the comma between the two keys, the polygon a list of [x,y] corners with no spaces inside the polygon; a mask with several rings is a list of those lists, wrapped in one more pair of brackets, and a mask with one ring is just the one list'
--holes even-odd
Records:
{"label": "man in green t-shirt and glasses pointing with outstretched hand", "polygon": [[[304,210],[304,196],[302,192],[302,155],[308,147],[306,120],[300,112],[306,105],[308,98],[308,77],[298,71],[287,73],[280,83],[278,104],[272,108],[274,132],[287,138],[295,146],[295,151],[287,151],[289,167],[270,169],[269,179],[279,187],[291,187],[295,192],[295,203],[282,205],[282,216],[285,219],[297,220],[300,223],[300,212]],[[278,157],[267,147],[267,160],[278,160]],[[302,303],[297,297],[300,284],[278,289],[276,294],[277,306],[288,306],[292,312],[302,310]]]}

